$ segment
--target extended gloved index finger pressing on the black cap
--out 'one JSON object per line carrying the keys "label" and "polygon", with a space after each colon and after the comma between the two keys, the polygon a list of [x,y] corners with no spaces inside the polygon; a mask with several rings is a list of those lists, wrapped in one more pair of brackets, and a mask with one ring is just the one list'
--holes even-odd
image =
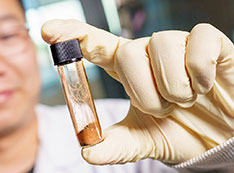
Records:
{"label": "extended gloved index finger pressing on the black cap", "polygon": [[119,45],[128,41],[78,20],[48,21],[42,26],[41,35],[49,44],[78,39],[84,57],[110,71]]}

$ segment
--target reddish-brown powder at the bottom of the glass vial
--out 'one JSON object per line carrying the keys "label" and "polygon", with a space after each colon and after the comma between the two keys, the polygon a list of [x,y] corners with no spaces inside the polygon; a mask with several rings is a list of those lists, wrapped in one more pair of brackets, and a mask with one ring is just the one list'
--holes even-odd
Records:
{"label": "reddish-brown powder at the bottom of the glass vial", "polygon": [[97,122],[90,123],[77,134],[81,146],[95,145],[102,141],[102,135],[99,133],[98,127]]}

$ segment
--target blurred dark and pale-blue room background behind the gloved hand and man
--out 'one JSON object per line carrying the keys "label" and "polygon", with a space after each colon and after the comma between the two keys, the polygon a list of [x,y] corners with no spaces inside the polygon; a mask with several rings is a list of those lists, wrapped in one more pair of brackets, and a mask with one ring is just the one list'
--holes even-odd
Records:
{"label": "blurred dark and pale-blue room background behind the gloved hand and man", "polygon": [[[38,49],[42,74],[40,102],[64,104],[49,45],[40,36],[50,19],[79,19],[127,38],[151,36],[161,30],[185,30],[208,22],[234,40],[234,0],[23,0],[30,35]],[[104,70],[84,62],[93,97],[127,98],[123,87]]]}

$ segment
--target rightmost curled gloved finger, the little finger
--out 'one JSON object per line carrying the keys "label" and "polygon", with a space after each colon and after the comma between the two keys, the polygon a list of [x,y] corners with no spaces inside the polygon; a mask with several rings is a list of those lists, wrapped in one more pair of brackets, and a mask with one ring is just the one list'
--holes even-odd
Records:
{"label": "rightmost curled gloved finger, the little finger", "polygon": [[186,67],[197,93],[209,92],[217,65],[232,59],[233,44],[218,29],[209,24],[198,24],[192,29],[188,37]]}

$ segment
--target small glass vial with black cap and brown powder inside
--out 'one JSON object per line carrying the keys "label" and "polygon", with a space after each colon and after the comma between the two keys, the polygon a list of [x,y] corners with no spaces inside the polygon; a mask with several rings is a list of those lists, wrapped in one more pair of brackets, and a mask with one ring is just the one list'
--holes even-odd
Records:
{"label": "small glass vial with black cap and brown powder inside", "polygon": [[65,100],[81,146],[102,140],[102,132],[82,62],[79,41],[51,45]]}

